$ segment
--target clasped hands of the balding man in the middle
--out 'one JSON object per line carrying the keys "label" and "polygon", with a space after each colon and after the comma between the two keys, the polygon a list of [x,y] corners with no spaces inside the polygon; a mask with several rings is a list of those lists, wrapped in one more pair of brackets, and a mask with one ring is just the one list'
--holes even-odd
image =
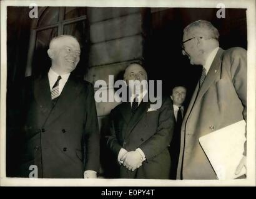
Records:
{"label": "clasped hands of the balding man in the middle", "polygon": [[128,170],[134,171],[138,169],[142,165],[142,158],[139,152],[137,151],[129,151],[124,154],[121,158],[123,161],[124,167]]}

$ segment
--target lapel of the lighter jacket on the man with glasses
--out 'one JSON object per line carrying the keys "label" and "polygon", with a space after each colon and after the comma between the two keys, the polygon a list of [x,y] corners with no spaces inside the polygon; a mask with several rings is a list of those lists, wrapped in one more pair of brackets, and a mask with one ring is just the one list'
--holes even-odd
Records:
{"label": "lapel of the lighter jacket on the man with glasses", "polygon": [[222,57],[223,52],[224,52],[223,49],[219,49],[217,54],[215,55],[214,61],[212,62],[212,65],[210,66],[210,70],[207,73],[204,83],[202,84],[202,87],[199,90],[199,93],[197,96],[197,101],[199,101],[199,99],[202,98],[204,93],[209,89],[212,82],[219,75],[220,62],[221,62],[221,57]]}

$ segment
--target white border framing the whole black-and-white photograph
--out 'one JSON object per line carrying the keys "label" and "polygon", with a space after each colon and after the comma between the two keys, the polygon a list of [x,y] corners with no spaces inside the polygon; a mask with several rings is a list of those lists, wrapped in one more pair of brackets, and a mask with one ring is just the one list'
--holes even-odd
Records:
{"label": "white border framing the whole black-and-white photograph", "polygon": [[[226,8],[247,9],[248,80],[247,80],[247,179],[240,180],[129,180],[129,179],[29,179],[6,177],[6,16],[7,6],[88,6],[88,7],[214,7],[224,3]],[[56,1],[1,1],[1,133],[0,185],[1,186],[255,186],[255,0],[56,0]]]}

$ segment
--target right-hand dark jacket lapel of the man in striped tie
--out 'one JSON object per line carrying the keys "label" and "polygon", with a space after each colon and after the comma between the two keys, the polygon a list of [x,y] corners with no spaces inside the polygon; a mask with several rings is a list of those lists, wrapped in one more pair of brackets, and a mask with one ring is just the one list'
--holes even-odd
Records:
{"label": "right-hand dark jacket lapel of the man in striped tie", "polygon": [[49,118],[46,121],[46,125],[52,123],[54,119],[57,119],[62,113],[64,113],[79,95],[82,89],[82,84],[77,83],[72,74],[69,76],[66,85],[64,86],[59,99],[52,109]]}

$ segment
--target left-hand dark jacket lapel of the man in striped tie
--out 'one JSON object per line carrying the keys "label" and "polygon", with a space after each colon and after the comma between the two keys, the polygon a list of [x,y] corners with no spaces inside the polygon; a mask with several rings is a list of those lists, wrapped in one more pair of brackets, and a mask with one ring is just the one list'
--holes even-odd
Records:
{"label": "left-hand dark jacket lapel of the man in striped tie", "polygon": [[43,124],[52,109],[51,90],[47,75],[34,81],[34,98],[36,99],[37,104],[39,104],[39,109],[42,115],[44,115],[44,119],[41,121]]}

